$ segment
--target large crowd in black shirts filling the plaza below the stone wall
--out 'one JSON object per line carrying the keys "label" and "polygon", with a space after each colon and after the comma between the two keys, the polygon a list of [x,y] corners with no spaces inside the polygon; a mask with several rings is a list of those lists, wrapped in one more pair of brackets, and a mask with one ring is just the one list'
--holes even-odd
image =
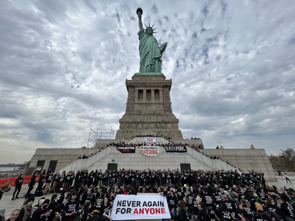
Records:
{"label": "large crowd in black shirts filling the plaza below the stone wall", "polygon": [[[268,186],[264,174],[253,170],[239,174],[237,170],[83,169],[75,174],[49,169],[42,172],[37,183],[36,175],[32,176],[24,205],[8,220],[112,221],[116,195],[137,193],[164,196],[172,220],[294,220],[294,189]],[[22,179],[20,175],[16,180],[12,200],[19,198],[14,194],[19,193]],[[35,186],[35,194],[30,193]],[[3,187],[2,194],[9,189],[10,185]],[[46,199],[48,192],[53,195]],[[42,195],[36,203],[34,197]]]}

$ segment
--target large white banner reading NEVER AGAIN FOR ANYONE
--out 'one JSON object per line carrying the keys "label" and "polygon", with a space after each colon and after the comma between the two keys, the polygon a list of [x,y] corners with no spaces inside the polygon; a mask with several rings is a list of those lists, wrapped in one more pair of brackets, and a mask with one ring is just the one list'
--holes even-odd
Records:
{"label": "large white banner reading NEVER AGAIN FOR ANYONE", "polygon": [[155,195],[116,195],[113,220],[171,219],[167,200]]}

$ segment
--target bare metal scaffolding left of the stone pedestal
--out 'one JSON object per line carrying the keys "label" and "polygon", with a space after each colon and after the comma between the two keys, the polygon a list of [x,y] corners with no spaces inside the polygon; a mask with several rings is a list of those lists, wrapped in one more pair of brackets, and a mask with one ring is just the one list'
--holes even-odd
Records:
{"label": "bare metal scaffolding left of the stone pedestal", "polygon": [[96,140],[97,139],[114,139],[115,131],[113,127],[111,129],[92,129],[90,128],[87,148],[93,149],[95,148]]}

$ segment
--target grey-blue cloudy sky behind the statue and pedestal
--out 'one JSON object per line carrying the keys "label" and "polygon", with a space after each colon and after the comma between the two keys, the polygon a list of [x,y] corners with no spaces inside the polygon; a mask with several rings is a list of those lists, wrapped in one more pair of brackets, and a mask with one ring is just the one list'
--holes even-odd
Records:
{"label": "grey-blue cloudy sky behind the statue and pedestal", "polygon": [[168,42],[162,72],[184,138],[293,148],[294,1],[0,1],[0,163],[119,129],[139,71],[137,7]]}

